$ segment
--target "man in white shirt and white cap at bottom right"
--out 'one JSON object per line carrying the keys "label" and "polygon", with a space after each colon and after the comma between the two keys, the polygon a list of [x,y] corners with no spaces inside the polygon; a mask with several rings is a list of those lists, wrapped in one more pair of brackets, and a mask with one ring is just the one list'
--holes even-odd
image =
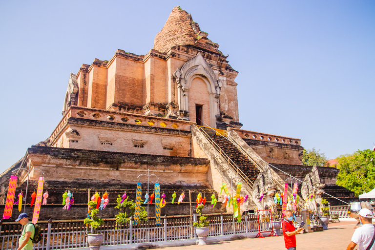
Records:
{"label": "man in white shirt and white cap at bottom right", "polygon": [[372,223],[373,212],[370,209],[362,208],[359,210],[358,215],[359,222],[362,226],[355,229],[352,241],[349,243],[346,250],[354,250],[357,244],[358,250],[375,250],[375,244],[373,241],[373,238],[375,237],[375,227]]}

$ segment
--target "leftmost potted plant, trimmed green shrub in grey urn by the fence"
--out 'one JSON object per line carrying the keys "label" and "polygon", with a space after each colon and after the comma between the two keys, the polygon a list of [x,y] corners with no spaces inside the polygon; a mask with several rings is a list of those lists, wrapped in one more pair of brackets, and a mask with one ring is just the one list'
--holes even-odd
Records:
{"label": "leftmost potted plant, trimmed green shrub in grey urn by the fence", "polygon": [[103,233],[97,233],[97,229],[103,225],[104,221],[97,216],[99,209],[95,208],[96,202],[90,201],[87,205],[89,206],[89,211],[91,211],[90,218],[83,220],[84,224],[90,225],[91,233],[87,234],[87,242],[91,250],[99,250],[103,242]]}

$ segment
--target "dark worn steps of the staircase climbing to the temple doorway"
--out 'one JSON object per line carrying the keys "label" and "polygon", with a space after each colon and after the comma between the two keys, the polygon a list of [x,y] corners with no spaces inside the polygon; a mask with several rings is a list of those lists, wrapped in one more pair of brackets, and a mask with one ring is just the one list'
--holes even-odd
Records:
{"label": "dark worn steps of the staircase climbing to the temple doorway", "polygon": [[258,177],[258,168],[240,151],[228,141],[224,136],[217,135],[212,130],[205,129],[208,136],[216,143],[220,149],[229,156],[230,160],[254,183]]}

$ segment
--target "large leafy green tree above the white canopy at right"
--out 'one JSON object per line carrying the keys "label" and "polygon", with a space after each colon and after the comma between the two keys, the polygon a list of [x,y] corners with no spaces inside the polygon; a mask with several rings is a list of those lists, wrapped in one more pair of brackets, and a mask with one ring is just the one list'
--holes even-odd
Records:
{"label": "large leafy green tree above the white canopy at right", "polygon": [[336,167],[340,170],[337,185],[354,191],[355,196],[375,187],[375,151],[358,150],[353,154],[341,155],[336,160]]}

